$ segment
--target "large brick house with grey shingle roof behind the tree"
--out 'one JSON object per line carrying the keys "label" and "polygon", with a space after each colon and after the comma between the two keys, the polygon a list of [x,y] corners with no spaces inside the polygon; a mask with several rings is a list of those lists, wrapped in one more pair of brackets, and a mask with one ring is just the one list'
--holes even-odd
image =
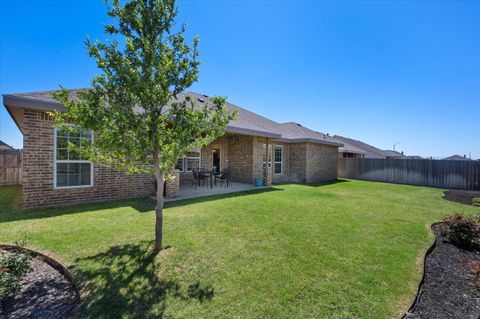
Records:
{"label": "large brick house with grey shingle roof behind the tree", "polygon": [[[155,181],[148,175],[127,175],[112,168],[71,158],[67,141],[52,126],[47,112],[64,110],[52,98],[53,91],[3,95],[3,104],[23,134],[23,206],[55,206],[80,202],[150,196]],[[185,93],[193,100],[209,102],[206,95]],[[76,91],[72,90],[72,97]],[[338,147],[331,137],[297,123],[277,123],[244,108],[238,110],[226,133],[201,149],[190,150],[179,160],[176,177],[166,185],[166,196],[176,197],[189,185],[193,169],[228,168],[231,180],[265,185],[280,182],[320,182],[337,178]],[[91,132],[83,132],[92,139]],[[268,150],[268,151],[267,151]],[[267,159],[267,153],[268,159]]]}

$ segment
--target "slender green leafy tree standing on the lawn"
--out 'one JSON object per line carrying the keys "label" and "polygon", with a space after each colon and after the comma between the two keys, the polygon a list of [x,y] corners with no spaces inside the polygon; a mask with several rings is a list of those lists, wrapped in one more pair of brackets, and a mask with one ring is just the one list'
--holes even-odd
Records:
{"label": "slender green leafy tree standing on the lawn", "polygon": [[181,98],[198,79],[199,39],[187,44],[184,25],[173,32],[177,12],[174,0],[110,2],[108,15],[116,24],[106,25],[105,32],[123,41],[91,42],[87,37],[88,54],[102,74],[75,98],[64,88],[55,93],[66,112],[53,114],[61,129],[75,123],[95,132],[93,143],[69,145],[85,158],[155,175],[155,253],[163,247],[165,180],[172,178],[181,156],[221,136],[235,117],[223,97],[209,102]]}

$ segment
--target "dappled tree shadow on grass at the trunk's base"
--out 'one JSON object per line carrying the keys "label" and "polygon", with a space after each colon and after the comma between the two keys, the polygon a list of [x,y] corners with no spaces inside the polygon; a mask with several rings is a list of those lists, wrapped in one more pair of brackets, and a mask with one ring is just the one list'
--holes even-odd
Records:
{"label": "dappled tree shadow on grass at the trunk's base", "polygon": [[170,297],[198,302],[213,298],[210,285],[199,281],[181,285],[160,278],[150,246],[145,241],[114,246],[76,260],[71,271],[83,295],[82,317],[163,318]]}

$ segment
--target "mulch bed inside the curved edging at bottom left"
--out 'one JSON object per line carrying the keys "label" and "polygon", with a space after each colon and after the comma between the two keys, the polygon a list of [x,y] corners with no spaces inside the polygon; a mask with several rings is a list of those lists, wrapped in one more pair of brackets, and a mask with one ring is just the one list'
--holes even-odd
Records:
{"label": "mulch bed inside the curved edging at bottom left", "polygon": [[[47,262],[48,261],[48,262]],[[52,266],[55,266],[53,267]],[[30,257],[32,271],[20,291],[3,304],[0,318],[72,318],[78,315],[79,295],[74,283],[42,256]]]}

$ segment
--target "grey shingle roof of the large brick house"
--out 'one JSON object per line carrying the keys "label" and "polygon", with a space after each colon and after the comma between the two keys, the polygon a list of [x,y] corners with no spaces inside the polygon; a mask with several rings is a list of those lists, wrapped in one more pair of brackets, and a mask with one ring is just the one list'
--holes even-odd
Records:
{"label": "grey shingle roof of the large brick house", "polygon": [[[71,90],[71,97],[77,98],[77,92],[81,89]],[[30,108],[46,111],[63,111],[62,105],[53,99],[55,91],[42,91],[30,93],[4,94],[3,104],[7,107],[12,117],[15,116],[11,108]],[[211,103],[207,95],[187,92],[178,96],[178,100],[190,96],[200,102]],[[227,102],[227,107],[238,111],[238,118],[231,121],[227,126],[227,132],[253,136],[262,136],[287,143],[311,142],[333,146],[343,146],[342,142],[332,139],[321,132],[316,132],[297,123],[277,123],[266,117],[250,112],[244,108]],[[17,125],[19,123],[17,122]],[[18,125],[21,128],[21,125]]]}

